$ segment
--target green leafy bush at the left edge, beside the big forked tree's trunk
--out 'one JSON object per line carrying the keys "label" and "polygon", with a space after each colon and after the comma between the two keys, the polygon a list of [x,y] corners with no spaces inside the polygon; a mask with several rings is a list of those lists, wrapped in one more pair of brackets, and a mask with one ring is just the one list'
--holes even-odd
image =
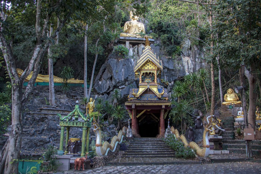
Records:
{"label": "green leafy bush at the left edge, beside the big forked tree's trunk", "polygon": [[8,105],[0,106],[0,137],[6,132],[6,129],[11,121],[12,111]]}

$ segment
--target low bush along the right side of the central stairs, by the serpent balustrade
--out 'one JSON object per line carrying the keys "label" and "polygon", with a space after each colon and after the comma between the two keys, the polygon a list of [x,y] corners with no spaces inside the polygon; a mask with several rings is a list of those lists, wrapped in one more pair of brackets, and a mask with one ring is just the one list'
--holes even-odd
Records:
{"label": "low bush along the right side of the central stairs, by the serpent balustrade", "polygon": [[163,141],[170,146],[176,153],[177,158],[192,159],[195,158],[195,153],[191,148],[185,147],[180,139],[176,139],[174,134],[168,135]]}

